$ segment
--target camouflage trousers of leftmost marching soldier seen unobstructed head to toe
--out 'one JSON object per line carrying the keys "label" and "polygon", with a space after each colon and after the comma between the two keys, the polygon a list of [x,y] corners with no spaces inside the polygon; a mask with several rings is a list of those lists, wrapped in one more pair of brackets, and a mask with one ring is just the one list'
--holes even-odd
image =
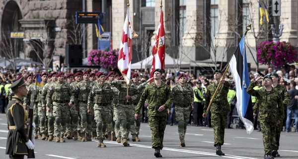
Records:
{"label": "camouflage trousers of leftmost marching soldier seen unobstructed head to toe", "polygon": [[53,115],[55,117],[54,132],[56,137],[62,137],[65,133],[65,125],[69,106],[66,103],[53,102]]}

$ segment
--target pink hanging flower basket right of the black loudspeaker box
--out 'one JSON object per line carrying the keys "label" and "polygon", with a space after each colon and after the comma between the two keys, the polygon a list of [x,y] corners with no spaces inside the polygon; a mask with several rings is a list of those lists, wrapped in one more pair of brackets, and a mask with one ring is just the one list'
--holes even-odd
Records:
{"label": "pink hanging flower basket right of the black loudspeaker box", "polygon": [[118,63],[117,50],[91,50],[87,56],[88,65],[102,68],[116,68]]}

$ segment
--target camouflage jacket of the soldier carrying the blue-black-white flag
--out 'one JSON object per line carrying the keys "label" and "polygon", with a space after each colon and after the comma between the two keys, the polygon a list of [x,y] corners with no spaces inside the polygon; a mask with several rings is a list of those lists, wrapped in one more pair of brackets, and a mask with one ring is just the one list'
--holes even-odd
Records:
{"label": "camouflage jacket of the soldier carrying the blue-black-white flag", "polygon": [[[215,82],[213,82],[207,87],[206,95],[205,95],[206,101],[204,105],[204,113],[206,113],[209,103],[218,85],[219,84],[216,84]],[[231,108],[226,98],[229,86],[230,86],[230,83],[228,81],[225,81],[224,84],[221,84],[221,87],[219,88],[211,104],[211,108],[210,108],[211,113],[222,113],[222,112],[230,111]]]}

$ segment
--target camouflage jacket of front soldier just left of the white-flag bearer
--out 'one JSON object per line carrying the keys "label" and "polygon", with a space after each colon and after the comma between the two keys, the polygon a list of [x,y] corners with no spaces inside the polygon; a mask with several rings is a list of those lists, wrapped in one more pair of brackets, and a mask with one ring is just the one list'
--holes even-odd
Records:
{"label": "camouflage jacket of front soldier just left of the white-flag bearer", "polygon": [[113,96],[114,92],[110,84],[104,83],[104,85],[100,85],[98,82],[94,82],[88,96],[87,109],[93,109],[94,104],[111,106]]}

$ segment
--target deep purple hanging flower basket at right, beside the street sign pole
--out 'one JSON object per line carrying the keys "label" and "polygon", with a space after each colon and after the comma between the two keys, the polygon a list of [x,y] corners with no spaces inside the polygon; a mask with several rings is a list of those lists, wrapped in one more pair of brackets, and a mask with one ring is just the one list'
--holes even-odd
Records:
{"label": "deep purple hanging flower basket at right, beside the street sign pole", "polygon": [[275,68],[280,68],[297,61],[297,51],[289,42],[265,41],[260,43],[257,49],[257,58],[260,64],[271,64]]}

